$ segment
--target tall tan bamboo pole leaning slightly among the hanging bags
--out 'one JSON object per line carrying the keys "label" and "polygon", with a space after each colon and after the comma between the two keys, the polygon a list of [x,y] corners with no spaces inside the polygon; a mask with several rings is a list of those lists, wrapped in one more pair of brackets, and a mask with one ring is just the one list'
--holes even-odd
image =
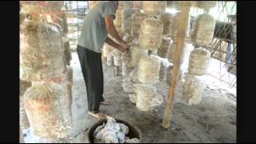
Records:
{"label": "tall tan bamboo pole leaning slightly among the hanging bags", "polygon": [[169,97],[166,102],[166,110],[162,118],[162,127],[167,129],[170,127],[171,112],[173,109],[174,92],[176,83],[178,82],[178,74],[180,69],[180,61],[185,46],[186,30],[188,26],[191,1],[182,1],[181,15],[179,18],[180,27],[178,28],[177,46],[174,55],[174,68],[172,70],[172,78],[169,89]]}

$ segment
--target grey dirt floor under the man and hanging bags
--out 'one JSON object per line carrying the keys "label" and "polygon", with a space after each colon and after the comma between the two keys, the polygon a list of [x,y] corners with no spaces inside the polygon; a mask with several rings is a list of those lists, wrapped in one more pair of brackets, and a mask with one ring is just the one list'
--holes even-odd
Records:
{"label": "grey dirt floor under the man and hanging bags", "polygon": [[[88,142],[87,131],[96,119],[87,114],[86,86],[76,52],[72,53],[70,64],[74,70],[72,142]],[[101,106],[101,110],[138,126],[142,142],[236,142],[236,94],[223,90],[218,84],[205,81],[202,102],[195,106],[182,102],[182,86],[178,85],[171,127],[164,130],[161,122],[166,103],[150,112],[139,111],[122,90],[122,76],[114,77],[114,68],[106,64],[103,69],[104,98],[114,104]],[[165,82],[154,86],[166,100],[169,86]]]}

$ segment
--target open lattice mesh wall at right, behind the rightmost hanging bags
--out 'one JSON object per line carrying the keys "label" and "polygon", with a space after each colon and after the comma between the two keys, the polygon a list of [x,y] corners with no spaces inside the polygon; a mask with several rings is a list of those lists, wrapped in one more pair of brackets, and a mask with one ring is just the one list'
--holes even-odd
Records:
{"label": "open lattice mesh wall at right, behind the rightmost hanging bags", "polygon": [[[236,5],[237,2],[235,1],[218,1],[217,6],[209,11],[217,24],[212,42],[209,46],[204,46],[210,50],[212,56],[210,67],[218,68],[208,70],[208,74],[218,78],[220,82],[231,88],[236,87],[237,39],[236,32],[234,32],[234,26],[237,26]],[[190,9],[190,17],[192,18],[203,13],[204,10],[197,7]]]}

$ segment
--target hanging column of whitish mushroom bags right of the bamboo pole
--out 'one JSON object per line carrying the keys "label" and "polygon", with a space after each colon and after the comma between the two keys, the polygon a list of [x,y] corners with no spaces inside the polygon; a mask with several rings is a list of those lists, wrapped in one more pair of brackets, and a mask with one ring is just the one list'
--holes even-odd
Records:
{"label": "hanging column of whitish mushroom bags right of the bamboo pole", "polygon": [[216,6],[216,3],[217,1],[198,1],[196,5],[204,9],[205,13],[198,15],[194,22],[192,42],[194,45],[198,45],[199,48],[191,51],[188,74],[184,78],[182,99],[189,105],[201,102],[203,90],[201,78],[207,73],[210,64],[210,51],[203,49],[201,46],[209,45],[213,39],[215,20],[207,13]]}

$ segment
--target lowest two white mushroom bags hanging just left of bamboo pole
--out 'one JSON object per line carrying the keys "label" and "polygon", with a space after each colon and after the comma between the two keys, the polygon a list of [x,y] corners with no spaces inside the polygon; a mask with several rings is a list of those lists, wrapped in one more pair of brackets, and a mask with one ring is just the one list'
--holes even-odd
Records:
{"label": "lowest two white mushroom bags hanging just left of bamboo pole", "polygon": [[153,110],[155,106],[162,104],[162,96],[157,93],[154,83],[159,82],[161,60],[158,56],[148,55],[140,58],[138,63],[137,79],[134,84],[134,94],[130,94],[130,100],[136,103],[138,110]]}

